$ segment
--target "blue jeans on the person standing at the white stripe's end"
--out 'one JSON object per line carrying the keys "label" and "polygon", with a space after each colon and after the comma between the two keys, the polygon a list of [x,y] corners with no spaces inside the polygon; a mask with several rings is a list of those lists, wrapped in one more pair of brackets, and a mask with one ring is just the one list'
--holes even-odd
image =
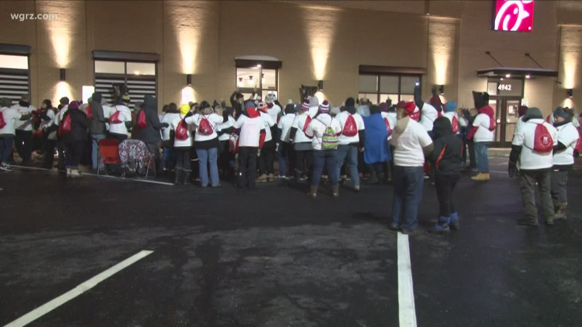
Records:
{"label": "blue jeans on the person standing at the white stripe's end", "polygon": [[418,206],[423,199],[423,167],[394,166],[392,172],[394,197],[392,199],[392,223],[402,230],[413,231],[418,227]]}

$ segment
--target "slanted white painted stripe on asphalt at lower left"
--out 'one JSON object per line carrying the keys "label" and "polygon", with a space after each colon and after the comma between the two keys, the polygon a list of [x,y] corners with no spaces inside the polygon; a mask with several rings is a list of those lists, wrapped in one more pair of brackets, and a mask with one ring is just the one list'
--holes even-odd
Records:
{"label": "slanted white painted stripe on asphalt at lower left", "polygon": [[10,322],[10,324],[5,325],[4,327],[22,327],[22,326],[26,326],[26,325],[30,324],[31,322],[35,321],[36,319],[42,317],[43,315],[47,314],[48,312],[51,312],[52,310],[55,310],[56,308],[58,308],[62,304],[65,304],[66,302],[72,300],[73,298],[87,292],[88,290],[95,287],[95,285],[97,285],[98,283],[101,283],[102,281],[104,281],[105,279],[108,279],[109,277],[111,277],[115,273],[121,271],[122,269],[127,268],[127,266],[130,266],[130,265],[136,263],[138,260],[146,257],[147,255],[152,254],[153,252],[154,251],[145,251],[144,250],[144,251],[140,251],[140,253],[132,255],[131,257],[127,258],[126,260],[119,262],[119,264],[116,264],[115,266],[112,266],[111,268],[107,269],[106,271],[101,272],[99,275],[94,276],[93,278],[87,280],[86,282],[79,284],[79,286],[75,287],[74,289],[70,290],[69,292],[62,294],[61,296],[55,298],[54,300],[51,300],[51,301],[41,305],[40,307],[34,309],[33,311],[30,311],[26,315],[23,315],[22,317],[16,319],[15,321]]}

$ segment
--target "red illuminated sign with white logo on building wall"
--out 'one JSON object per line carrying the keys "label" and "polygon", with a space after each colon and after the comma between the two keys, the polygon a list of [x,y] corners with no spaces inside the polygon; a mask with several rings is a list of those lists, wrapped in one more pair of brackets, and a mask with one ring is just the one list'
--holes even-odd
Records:
{"label": "red illuminated sign with white logo on building wall", "polygon": [[534,0],[496,0],[493,29],[531,32],[534,26]]}

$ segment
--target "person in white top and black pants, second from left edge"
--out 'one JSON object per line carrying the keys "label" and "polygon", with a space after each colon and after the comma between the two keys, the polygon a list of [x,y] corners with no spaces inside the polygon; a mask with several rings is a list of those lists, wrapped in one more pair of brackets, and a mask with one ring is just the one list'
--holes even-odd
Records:
{"label": "person in white top and black pants, second from left edge", "polygon": [[[20,101],[11,106],[10,108],[15,109],[20,115],[28,115],[36,111],[36,107],[30,104],[30,97],[28,94],[23,94],[20,96]],[[16,151],[22,158],[21,165],[30,165],[30,158],[33,151],[33,118],[31,116],[28,120],[18,120],[16,122],[14,143]]]}

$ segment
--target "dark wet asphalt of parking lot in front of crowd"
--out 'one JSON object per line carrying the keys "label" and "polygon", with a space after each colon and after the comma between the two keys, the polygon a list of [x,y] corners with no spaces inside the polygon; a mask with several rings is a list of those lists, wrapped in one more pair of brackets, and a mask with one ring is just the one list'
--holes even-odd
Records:
{"label": "dark wet asphalt of parking lot in front of crowd", "polygon": [[[426,232],[425,185],[410,237],[418,326],[580,326],[580,176],[569,219],[523,228],[505,158],[465,175],[459,232]],[[576,174],[574,174],[576,175]],[[339,198],[166,186],[42,172],[0,175],[0,326],[142,250],[151,255],[29,326],[399,326],[390,186]]]}

